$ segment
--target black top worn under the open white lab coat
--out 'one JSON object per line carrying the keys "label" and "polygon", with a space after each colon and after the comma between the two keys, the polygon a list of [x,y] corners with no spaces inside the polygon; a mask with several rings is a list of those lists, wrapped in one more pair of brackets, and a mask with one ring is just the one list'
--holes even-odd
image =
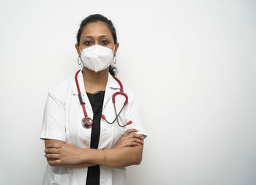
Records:
{"label": "black top worn under the open white lab coat", "polygon": [[[93,124],[91,125],[90,148],[98,148],[100,135],[100,119],[105,91],[97,91],[94,94],[86,92],[94,112]],[[88,167],[86,185],[99,185],[99,165]]]}

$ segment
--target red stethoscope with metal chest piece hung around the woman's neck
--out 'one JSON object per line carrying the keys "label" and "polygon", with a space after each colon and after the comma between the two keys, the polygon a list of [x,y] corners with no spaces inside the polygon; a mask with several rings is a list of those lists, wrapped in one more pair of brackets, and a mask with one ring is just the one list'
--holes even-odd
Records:
{"label": "red stethoscope with metal chest piece hung around the woman's neck", "polygon": [[[78,70],[78,72],[76,72],[75,74],[75,83],[76,83],[76,86],[78,88],[78,98],[79,98],[79,102],[80,102],[80,105],[82,105],[83,107],[83,114],[84,114],[84,118],[82,119],[82,124],[83,124],[83,127],[85,128],[89,128],[91,127],[91,125],[93,124],[93,121],[90,117],[88,117],[87,113],[86,113],[86,107],[84,106],[86,103],[83,101],[83,98],[81,96],[81,92],[80,92],[80,88],[79,88],[79,84],[78,84],[78,73],[80,72],[80,70]],[[123,89],[123,85],[121,83],[120,80],[118,80],[118,78],[116,78],[115,76],[112,76],[118,83],[119,83],[119,86],[120,86],[120,91],[116,92],[113,94],[112,96],[112,102],[113,102],[113,105],[114,105],[114,110],[115,110],[115,114],[116,114],[116,118],[110,122],[108,121],[105,116],[102,114],[102,119],[104,119],[108,124],[113,124],[115,121],[117,121],[119,127],[125,127],[129,124],[132,124],[132,121],[128,121],[127,124],[124,124],[124,125],[121,125],[118,121],[118,116],[120,115],[121,111],[124,109],[124,106],[127,105],[127,102],[128,102],[128,96],[127,94],[124,93],[124,89]],[[125,101],[124,101],[124,105],[121,107],[121,110],[119,111],[119,113],[116,112],[116,95],[122,95],[125,97]]]}

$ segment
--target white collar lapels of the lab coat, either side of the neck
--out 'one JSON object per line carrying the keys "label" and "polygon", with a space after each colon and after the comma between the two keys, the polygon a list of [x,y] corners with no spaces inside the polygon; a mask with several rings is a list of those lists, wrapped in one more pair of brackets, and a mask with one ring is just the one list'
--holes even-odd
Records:
{"label": "white collar lapels of the lab coat, either side of the neck", "polygon": [[[75,83],[75,75],[74,75],[73,82],[74,83],[72,86],[72,92],[73,92],[73,94],[78,95],[78,88]],[[91,103],[86,94],[86,88],[84,86],[82,70],[80,70],[80,72],[78,72],[78,84],[80,87],[80,92],[81,92],[81,94],[83,94],[83,100],[85,102],[86,107],[89,110],[91,110],[91,112],[93,112],[92,108],[91,108]],[[116,90],[120,91],[119,83],[112,77],[112,75],[110,75],[110,72],[108,72],[108,82],[107,82],[107,85],[105,88],[105,97],[104,97],[103,107],[106,105],[106,103],[109,101],[110,97],[112,97],[112,95],[115,93]]]}

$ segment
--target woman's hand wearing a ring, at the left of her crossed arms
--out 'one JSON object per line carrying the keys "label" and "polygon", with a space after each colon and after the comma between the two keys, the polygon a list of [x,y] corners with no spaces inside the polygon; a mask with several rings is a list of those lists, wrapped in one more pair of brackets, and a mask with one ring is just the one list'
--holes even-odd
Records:
{"label": "woman's hand wearing a ring, at the left of her crossed arms", "polygon": [[50,143],[46,146],[45,157],[49,165],[78,164],[83,162],[84,149],[73,144]]}

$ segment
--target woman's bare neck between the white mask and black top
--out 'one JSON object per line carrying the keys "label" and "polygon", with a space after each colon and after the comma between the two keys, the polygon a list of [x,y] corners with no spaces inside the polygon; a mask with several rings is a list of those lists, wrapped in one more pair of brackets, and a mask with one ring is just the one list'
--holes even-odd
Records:
{"label": "woman's bare neck between the white mask and black top", "polygon": [[94,72],[83,67],[82,73],[86,92],[95,93],[97,91],[105,91],[108,82],[108,68],[100,72]]}

